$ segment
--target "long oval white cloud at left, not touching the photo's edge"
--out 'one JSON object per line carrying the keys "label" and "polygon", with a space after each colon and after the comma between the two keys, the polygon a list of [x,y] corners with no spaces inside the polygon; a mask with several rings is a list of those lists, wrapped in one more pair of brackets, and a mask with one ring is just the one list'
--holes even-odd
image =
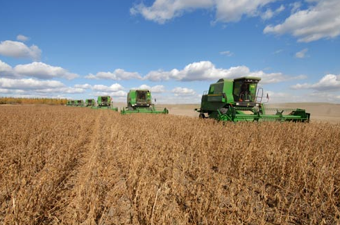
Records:
{"label": "long oval white cloud at left, not touching the photo's edge", "polygon": [[35,78],[67,78],[69,80],[77,78],[78,74],[73,74],[62,67],[53,67],[41,62],[33,62],[25,65],[17,65],[14,68],[16,74],[21,76],[33,76]]}

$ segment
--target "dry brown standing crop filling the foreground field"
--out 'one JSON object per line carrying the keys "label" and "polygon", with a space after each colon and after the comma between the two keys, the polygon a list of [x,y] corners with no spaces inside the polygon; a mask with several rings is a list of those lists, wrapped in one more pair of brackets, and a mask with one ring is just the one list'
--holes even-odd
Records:
{"label": "dry brown standing crop filling the foreground field", "polygon": [[339,224],[340,124],[0,107],[0,224]]}

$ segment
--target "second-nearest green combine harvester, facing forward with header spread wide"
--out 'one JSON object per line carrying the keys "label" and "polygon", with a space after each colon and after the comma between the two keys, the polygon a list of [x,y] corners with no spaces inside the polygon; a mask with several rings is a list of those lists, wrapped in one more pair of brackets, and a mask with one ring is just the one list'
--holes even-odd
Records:
{"label": "second-nearest green combine harvester, facing forward with header spread wide", "polygon": [[123,115],[130,113],[169,113],[167,108],[158,109],[155,107],[149,90],[130,90],[127,101],[128,107],[121,109]]}

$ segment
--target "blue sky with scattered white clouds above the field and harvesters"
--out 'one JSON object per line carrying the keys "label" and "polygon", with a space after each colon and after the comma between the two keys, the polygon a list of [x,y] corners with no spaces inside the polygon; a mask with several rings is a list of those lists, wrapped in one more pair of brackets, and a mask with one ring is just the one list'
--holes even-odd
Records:
{"label": "blue sky with scattered white clouds above the field and harvesters", "polygon": [[340,103],[339,0],[2,0],[0,96],[199,103],[259,76],[271,102]]}

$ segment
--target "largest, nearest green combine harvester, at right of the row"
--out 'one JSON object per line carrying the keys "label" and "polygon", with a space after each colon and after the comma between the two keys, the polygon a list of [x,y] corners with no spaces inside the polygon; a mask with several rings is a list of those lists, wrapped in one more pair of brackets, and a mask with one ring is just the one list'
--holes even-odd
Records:
{"label": "largest, nearest green combine harvester, at right of the row", "polygon": [[250,76],[234,80],[221,78],[203,93],[201,108],[195,110],[200,113],[200,118],[219,121],[309,122],[310,113],[300,108],[265,108],[263,89],[257,90],[260,80]]}

